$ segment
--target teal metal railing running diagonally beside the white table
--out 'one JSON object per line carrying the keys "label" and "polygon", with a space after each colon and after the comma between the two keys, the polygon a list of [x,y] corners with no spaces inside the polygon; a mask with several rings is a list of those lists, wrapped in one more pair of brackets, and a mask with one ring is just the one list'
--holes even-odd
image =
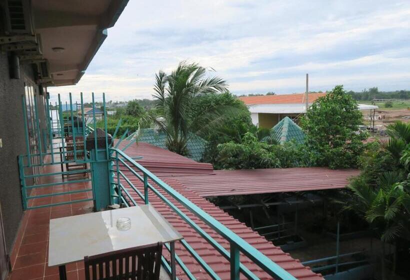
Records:
{"label": "teal metal railing running diagonally beside the white table", "polygon": [[[248,279],[258,279],[258,277],[250,271],[246,266],[240,262],[240,252],[257,264],[262,270],[264,270],[268,275],[274,279],[282,280],[295,280],[296,278],[289,274],[286,270],[280,267],[278,264],[273,262],[270,258],[264,255],[262,252],[254,248],[252,245],[243,240],[236,233],[228,229],[218,220],[213,218],[211,215],[203,211],[189,199],[184,197],[182,194],[177,192],[171,186],[163,182],[145,167],[137,163],[131,157],[129,157],[123,150],[117,147],[111,148],[111,159],[114,161],[112,169],[114,172],[114,187],[113,195],[118,201],[122,202],[126,206],[136,205],[137,202],[133,199],[130,192],[136,193],[143,203],[149,203],[148,190],[159,197],[170,209],[172,209],[175,214],[181,217],[189,226],[191,226],[196,232],[199,233],[202,238],[209,242],[216,251],[218,251],[222,256],[224,256],[230,263],[230,278],[239,279],[239,274],[242,273]],[[124,171],[131,173],[133,177],[138,178],[140,184],[139,189],[130,178],[126,176]],[[152,183],[151,183],[152,182]],[[126,187],[128,186],[128,187]],[[230,244],[229,251],[226,250],[221,244],[219,244],[214,238],[212,238],[204,229],[202,229],[197,223],[195,223],[191,218],[189,218],[180,208],[173,204],[165,195],[165,192],[178,203],[180,203],[185,209],[189,210],[200,220],[209,225],[213,230],[220,234],[224,239],[226,239]],[[220,279],[217,273],[211,268],[209,264],[185,241],[180,240],[182,246],[193,256],[193,258],[202,266],[204,271],[207,272],[210,278]],[[169,250],[170,246],[166,246]],[[195,277],[182,262],[182,260],[175,256],[176,262],[179,264],[181,269],[185,272],[186,276],[194,280]],[[163,259],[163,264],[165,268],[170,269],[169,264]],[[171,272],[171,271],[168,271]]]}

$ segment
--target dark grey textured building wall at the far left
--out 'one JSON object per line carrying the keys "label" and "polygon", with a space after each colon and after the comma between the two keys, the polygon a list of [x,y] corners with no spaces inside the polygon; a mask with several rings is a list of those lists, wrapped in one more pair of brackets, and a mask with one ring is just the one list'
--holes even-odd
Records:
{"label": "dark grey textured building wall at the far left", "polygon": [[[0,202],[8,252],[23,213],[17,162],[17,156],[26,153],[21,106],[23,75],[34,79],[31,66],[20,65],[20,79],[10,79],[7,54],[0,52]],[[38,92],[38,88],[36,90]],[[43,96],[37,93],[36,97],[40,126],[45,127]]]}

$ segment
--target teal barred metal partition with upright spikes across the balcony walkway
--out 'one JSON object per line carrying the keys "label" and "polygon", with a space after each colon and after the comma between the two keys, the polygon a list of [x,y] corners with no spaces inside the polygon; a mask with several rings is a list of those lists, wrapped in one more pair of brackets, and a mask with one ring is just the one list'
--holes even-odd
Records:
{"label": "teal barred metal partition with upright spikes across the balcony walkway", "polygon": [[[65,187],[68,184],[74,183],[82,183],[82,182],[89,182],[92,181],[89,178],[89,173],[91,173],[92,165],[88,163],[92,163],[98,161],[97,152],[95,152],[95,158],[91,160],[90,156],[88,155],[88,151],[86,148],[86,137],[96,129],[96,117],[95,117],[95,102],[94,102],[94,93],[92,93],[92,107],[93,107],[93,114],[92,114],[92,124],[93,127],[90,127],[85,123],[84,118],[84,105],[83,105],[83,97],[82,92],[80,93],[81,98],[81,115],[79,116],[78,113],[78,103],[73,102],[72,95],[69,93],[69,103],[65,102],[65,109],[63,112],[62,109],[62,102],[60,99],[60,95],[58,94],[58,103],[55,102],[54,112],[51,113],[51,108],[53,107],[49,102],[48,93],[45,98],[45,126],[46,129],[42,129],[40,131],[39,126],[39,118],[38,118],[38,108],[37,108],[37,101],[34,98],[34,112],[35,115],[32,119],[33,127],[35,128],[33,131],[35,132],[34,136],[38,143],[38,148],[33,149],[32,147],[32,138],[33,136],[30,135],[29,129],[31,127],[28,126],[27,119],[29,119],[26,110],[26,100],[25,96],[22,96],[21,105],[22,105],[22,113],[24,119],[24,132],[25,132],[25,141],[26,141],[26,154],[20,154],[18,156],[18,167],[19,167],[19,176],[20,176],[20,184],[21,184],[21,193],[22,193],[22,205],[24,209],[32,209],[38,207],[47,207],[47,206],[55,206],[67,203],[75,203],[81,201],[88,201],[93,200],[93,198],[84,198],[84,199],[69,199],[69,201],[62,201],[62,202],[52,202],[52,201],[59,201],[58,195],[66,195],[66,194],[77,194],[81,192],[88,192],[93,191],[93,188],[87,189],[70,189],[69,187]],[[102,93],[102,104],[104,110],[104,128],[106,131],[106,109],[105,109],[105,94]],[[32,128],[31,128],[32,130]],[[68,144],[68,138],[70,137],[70,142]],[[97,135],[94,133],[94,143],[96,146],[97,142]],[[105,143],[107,143],[107,135],[105,133]],[[78,145],[77,145],[78,144]],[[68,145],[70,145],[70,149],[68,149]],[[80,146],[81,148],[78,148]],[[96,148],[96,151],[103,150],[104,153],[108,155],[109,153],[109,146],[105,145],[104,148]],[[70,154],[70,156],[66,156]],[[80,155],[80,156],[78,156]],[[45,159],[46,156],[49,156],[49,159]],[[102,160],[102,159],[101,159]],[[44,172],[44,166],[47,165],[59,165],[60,170],[58,172]],[[84,167],[78,168],[75,170],[68,170],[68,164],[76,164],[76,166],[83,164]],[[65,165],[65,168],[64,168]],[[75,167],[77,168],[77,167]],[[68,176],[77,175],[83,173],[84,176],[87,175],[86,178],[75,178],[68,180]],[[61,175],[61,181],[55,181],[55,176]],[[53,176],[54,179],[52,183],[47,181],[47,176]],[[67,180],[64,180],[64,177]],[[64,185],[63,191],[44,191],[46,187],[54,187]],[[58,187],[57,187],[58,188]],[[54,198],[56,197],[56,198]],[[51,199],[52,198],[52,199]],[[45,203],[37,203],[39,200],[46,201]],[[51,202],[47,202],[51,201]]]}

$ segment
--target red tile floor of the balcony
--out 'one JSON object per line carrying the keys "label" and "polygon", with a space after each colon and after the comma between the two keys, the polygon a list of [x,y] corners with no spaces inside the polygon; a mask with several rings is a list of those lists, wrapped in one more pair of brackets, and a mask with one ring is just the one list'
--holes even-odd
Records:
{"label": "red tile floor of the balcony", "polygon": [[[49,159],[49,158],[48,158]],[[59,160],[59,157],[55,157]],[[43,173],[58,172],[60,165],[47,165]],[[83,174],[72,175],[69,179],[86,178]],[[41,183],[60,182],[60,175],[43,177]],[[67,179],[64,179],[67,180]],[[69,183],[34,189],[34,194],[55,193],[68,190],[91,188],[91,182]],[[31,205],[73,201],[92,198],[91,191],[74,194],[63,194],[32,199]],[[58,267],[48,266],[48,226],[52,218],[83,214],[92,211],[92,200],[69,203],[58,206],[48,206],[26,210],[20,222],[16,241],[12,249],[10,261],[12,270],[8,280],[54,280],[58,279]],[[64,240],[61,240],[64,242]],[[84,264],[82,261],[66,265],[67,279],[84,279]]]}

